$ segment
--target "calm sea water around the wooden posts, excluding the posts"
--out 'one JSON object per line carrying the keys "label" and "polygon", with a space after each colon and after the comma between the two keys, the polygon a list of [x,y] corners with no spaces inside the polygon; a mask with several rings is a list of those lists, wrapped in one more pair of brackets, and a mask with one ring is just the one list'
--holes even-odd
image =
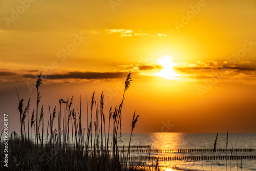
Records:
{"label": "calm sea water around the wooden posts, excluding the posts", "polygon": [[[122,142],[129,144],[130,134],[122,135]],[[226,134],[218,135],[217,152],[215,156],[226,156],[226,152],[221,152],[221,149],[226,149]],[[216,134],[184,134],[184,133],[151,133],[151,134],[133,134],[131,145],[133,149],[137,149],[132,153],[132,157],[148,156],[146,151],[140,152],[140,149],[147,149],[151,146],[151,157],[179,157],[179,156],[212,156],[212,152],[205,152],[202,149],[213,149],[216,139]],[[252,151],[232,152],[232,156],[256,156],[256,134],[228,134],[228,156],[231,155],[233,149],[251,149]],[[154,152],[153,149],[168,150],[163,152]],[[170,152],[170,149],[193,149],[182,153]],[[194,149],[201,149],[195,152]],[[234,159],[227,161],[227,170],[256,170],[256,159]],[[154,161],[155,162],[155,161]],[[211,160],[167,160],[160,161],[159,165],[162,170],[211,170]],[[143,163],[143,162],[142,162]],[[144,164],[152,164],[152,161]],[[242,165],[242,167],[241,167]],[[226,160],[214,160],[212,170],[226,170]]]}

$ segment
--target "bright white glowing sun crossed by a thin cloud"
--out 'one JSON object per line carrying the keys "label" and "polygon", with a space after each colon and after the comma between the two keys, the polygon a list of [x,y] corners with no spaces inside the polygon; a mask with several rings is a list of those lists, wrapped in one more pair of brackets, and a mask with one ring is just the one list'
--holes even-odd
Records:
{"label": "bright white glowing sun crossed by a thin cloud", "polygon": [[178,63],[174,63],[172,61],[172,57],[170,57],[169,55],[164,55],[160,57],[160,59],[158,60],[158,63],[161,64],[163,69],[154,75],[157,75],[159,77],[164,77],[165,79],[179,79],[177,77],[180,75],[176,74],[173,69],[173,67],[178,65]]}

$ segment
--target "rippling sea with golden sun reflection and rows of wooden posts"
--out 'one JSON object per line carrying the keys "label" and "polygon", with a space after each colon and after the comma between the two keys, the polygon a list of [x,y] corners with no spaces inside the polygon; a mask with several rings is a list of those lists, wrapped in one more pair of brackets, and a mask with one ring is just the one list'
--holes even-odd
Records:
{"label": "rippling sea with golden sun reflection and rows of wooden posts", "polygon": [[[131,158],[138,167],[160,170],[256,170],[256,134],[133,134]],[[127,150],[130,134],[122,134]],[[214,159],[214,160],[212,160]]]}

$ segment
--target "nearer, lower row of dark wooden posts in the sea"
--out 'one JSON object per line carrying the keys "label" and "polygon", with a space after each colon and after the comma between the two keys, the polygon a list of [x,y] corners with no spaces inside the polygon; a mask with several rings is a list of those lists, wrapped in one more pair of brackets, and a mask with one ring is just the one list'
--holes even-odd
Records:
{"label": "nearer, lower row of dark wooden posts in the sea", "polygon": [[133,161],[149,161],[149,160],[159,160],[159,161],[170,161],[170,160],[241,160],[241,159],[256,159],[256,156],[139,156],[132,157]]}

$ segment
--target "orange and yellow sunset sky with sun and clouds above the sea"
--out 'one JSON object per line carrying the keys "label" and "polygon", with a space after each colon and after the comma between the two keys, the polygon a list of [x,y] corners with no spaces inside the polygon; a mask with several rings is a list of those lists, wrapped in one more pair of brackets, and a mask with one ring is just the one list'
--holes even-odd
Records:
{"label": "orange and yellow sunset sky with sun and clouds above the sea", "polygon": [[85,127],[94,91],[108,115],[131,71],[123,132],[256,133],[256,1],[0,0],[0,129],[41,71],[46,117],[81,95]]}

